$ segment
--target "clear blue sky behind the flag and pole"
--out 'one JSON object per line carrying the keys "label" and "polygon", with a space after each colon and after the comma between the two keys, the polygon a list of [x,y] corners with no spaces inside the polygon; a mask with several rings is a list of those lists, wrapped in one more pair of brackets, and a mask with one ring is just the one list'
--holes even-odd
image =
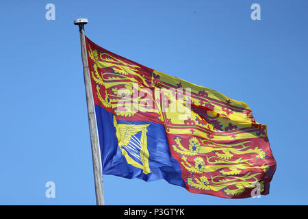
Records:
{"label": "clear blue sky behind the flag and pole", "polygon": [[[261,21],[251,20],[253,3]],[[1,205],[95,204],[79,16],[101,47],[246,102],[277,160],[261,198],[104,175],[107,205],[308,204],[308,1],[16,0],[0,14]],[[55,198],[45,197],[47,181]]]}

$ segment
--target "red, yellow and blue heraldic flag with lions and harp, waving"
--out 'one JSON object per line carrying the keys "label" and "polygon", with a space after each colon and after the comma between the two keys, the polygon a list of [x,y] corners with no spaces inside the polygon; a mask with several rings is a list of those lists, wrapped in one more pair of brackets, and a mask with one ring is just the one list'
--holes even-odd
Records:
{"label": "red, yellow and blue heraldic flag with lions and harp, waving", "polygon": [[86,47],[104,175],[223,198],[269,193],[276,162],[246,103]]}

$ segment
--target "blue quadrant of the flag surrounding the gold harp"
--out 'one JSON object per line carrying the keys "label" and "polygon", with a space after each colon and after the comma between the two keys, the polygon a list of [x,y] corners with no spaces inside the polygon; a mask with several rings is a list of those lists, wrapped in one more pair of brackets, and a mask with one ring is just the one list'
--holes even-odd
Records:
{"label": "blue quadrant of the flag surrounding the gold harp", "polygon": [[[146,128],[146,138],[151,172],[144,174],[142,169],[128,165],[125,156],[121,153],[118,139],[116,138],[116,127],[114,127],[114,114],[107,112],[99,105],[95,105],[95,113],[97,116],[103,175],[116,175],[128,179],[139,178],[144,181],[165,179],[171,184],[180,185],[185,188],[185,183],[181,178],[179,162],[170,154],[164,125],[149,121],[117,120],[118,124],[149,125]],[[133,157],[133,153],[138,151],[140,133],[131,139],[131,147],[126,147],[125,150],[129,153],[130,157]],[[134,145],[135,148],[132,147]],[[140,162],[138,157],[133,158],[136,162]]]}

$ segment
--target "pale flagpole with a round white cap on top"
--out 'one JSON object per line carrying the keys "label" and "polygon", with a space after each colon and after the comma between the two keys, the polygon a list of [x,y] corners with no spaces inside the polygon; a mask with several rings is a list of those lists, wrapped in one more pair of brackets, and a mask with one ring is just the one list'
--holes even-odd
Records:
{"label": "pale flagpole with a round white cap on top", "polygon": [[86,18],[78,18],[74,21],[74,24],[79,26],[81,57],[82,57],[82,65],[84,66],[84,85],[86,87],[86,100],[88,107],[88,120],[89,120],[90,140],[92,149],[95,195],[97,198],[97,205],[105,205],[103,196],[103,177],[101,172],[101,156],[99,151],[99,142],[97,138],[97,123],[95,121],[92,87],[91,87],[90,73],[88,66],[88,55],[87,55],[86,40],[84,35],[84,25],[86,25],[87,23],[88,19]]}

